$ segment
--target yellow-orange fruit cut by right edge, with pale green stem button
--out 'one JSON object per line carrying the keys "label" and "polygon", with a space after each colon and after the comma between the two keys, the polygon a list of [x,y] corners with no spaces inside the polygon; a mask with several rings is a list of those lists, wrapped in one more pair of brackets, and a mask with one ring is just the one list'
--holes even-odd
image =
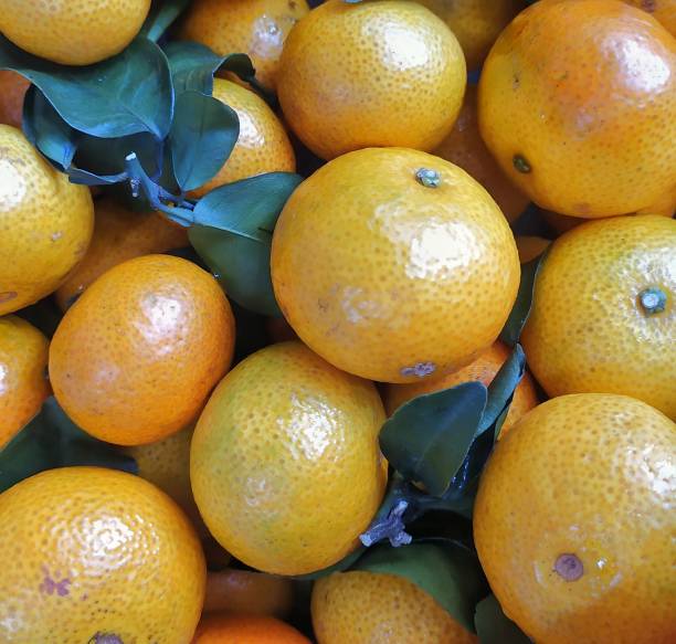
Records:
{"label": "yellow-orange fruit cut by right edge, with pale green stem button", "polygon": [[633,395],[676,419],[676,221],[616,217],[553,242],[521,341],[550,397]]}

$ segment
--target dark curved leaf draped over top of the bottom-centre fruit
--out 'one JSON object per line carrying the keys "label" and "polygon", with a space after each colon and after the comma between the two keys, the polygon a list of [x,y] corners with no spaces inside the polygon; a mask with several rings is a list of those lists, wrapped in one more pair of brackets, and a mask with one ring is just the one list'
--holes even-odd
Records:
{"label": "dark curved leaf draped over top of the bottom-centre fruit", "polygon": [[359,559],[352,570],[397,574],[432,595],[448,614],[474,633],[474,609],[486,592],[478,559],[453,542],[379,546]]}

